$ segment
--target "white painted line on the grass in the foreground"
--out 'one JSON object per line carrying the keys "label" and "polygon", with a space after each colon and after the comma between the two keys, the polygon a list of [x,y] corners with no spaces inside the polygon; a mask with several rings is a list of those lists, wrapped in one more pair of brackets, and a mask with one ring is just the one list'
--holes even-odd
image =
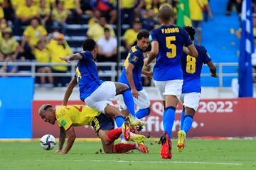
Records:
{"label": "white painted line on the grass in the foreground", "polygon": [[239,163],[228,163],[228,162],[156,162],[156,161],[122,161],[122,160],[90,160],[89,162],[117,162],[117,163],[146,163],[146,164],[215,164],[215,165],[235,165],[241,166]]}

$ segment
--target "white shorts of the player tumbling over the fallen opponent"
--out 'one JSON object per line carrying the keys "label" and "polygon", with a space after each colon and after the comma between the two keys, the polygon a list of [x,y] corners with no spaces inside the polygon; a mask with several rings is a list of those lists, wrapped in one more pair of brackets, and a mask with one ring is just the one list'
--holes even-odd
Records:
{"label": "white shorts of the player tumbling over the fallen opponent", "polygon": [[101,113],[105,113],[105,107],[113,105],[111,98],[116,95],[116,87],[112,81],[104,81],[93,93],[85,98],[85,103],[90,108],[95,108]]}

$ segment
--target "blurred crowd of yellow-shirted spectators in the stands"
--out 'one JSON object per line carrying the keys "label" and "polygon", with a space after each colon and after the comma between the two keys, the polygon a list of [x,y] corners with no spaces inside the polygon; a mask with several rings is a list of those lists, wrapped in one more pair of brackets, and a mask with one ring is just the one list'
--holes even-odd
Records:
{"label": "blurred crowd of yellow-shirted spectators in the stands", "polygon": [[[189,0],[191,19],[201,41],[201,22],[212,17],[208,0]],[[136,43],[139,30],[159,26],[161,4],[169,4],[178,13],[178,0],[120,0],[122,22],[122,58]],[[203,18],[203,13],[206,17]],[[70,25],[85,26],[83,33]],[[97,41],[97,62],[117,60],[117,1],[115,0],[0,0],[0,62],[62,62],[59,57],[73,53],[65,40],[78,34]],[[1,72],[18,72],[26,67],[1,67]],[[28,70],[29,71],[29,70]],[[66,66],[41,66],[40,73],[70,72]],[[40,84],[65,86],[67,77],[41,77]],[[144,86],[149,81],[144,81]]]}

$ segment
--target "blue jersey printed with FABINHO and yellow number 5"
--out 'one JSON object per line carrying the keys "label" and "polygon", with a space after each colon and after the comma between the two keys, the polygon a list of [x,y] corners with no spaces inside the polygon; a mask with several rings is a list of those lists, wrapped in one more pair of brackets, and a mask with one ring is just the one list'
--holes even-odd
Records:
{"label": "blue jersey printed with FABINHO and yellow number 5", "polygon": [[167,81],[183,79],[181,55],[183,46],[192,44],[186,30],[178,26],[161,26],[151,30],[150,42],[159,42],[159,54],[156,56],[154,80]]}

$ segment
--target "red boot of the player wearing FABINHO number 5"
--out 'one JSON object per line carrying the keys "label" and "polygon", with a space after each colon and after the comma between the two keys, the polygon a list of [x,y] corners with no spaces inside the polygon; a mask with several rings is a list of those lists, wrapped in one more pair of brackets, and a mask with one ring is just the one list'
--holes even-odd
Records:
{"label": "red boot of the player wearing FABINHO number 5", "polygon": [[169,140],[168,134],[165,132],[164,135],[160,137],[161,141],[161,158],[171,159],[171,140]]}

